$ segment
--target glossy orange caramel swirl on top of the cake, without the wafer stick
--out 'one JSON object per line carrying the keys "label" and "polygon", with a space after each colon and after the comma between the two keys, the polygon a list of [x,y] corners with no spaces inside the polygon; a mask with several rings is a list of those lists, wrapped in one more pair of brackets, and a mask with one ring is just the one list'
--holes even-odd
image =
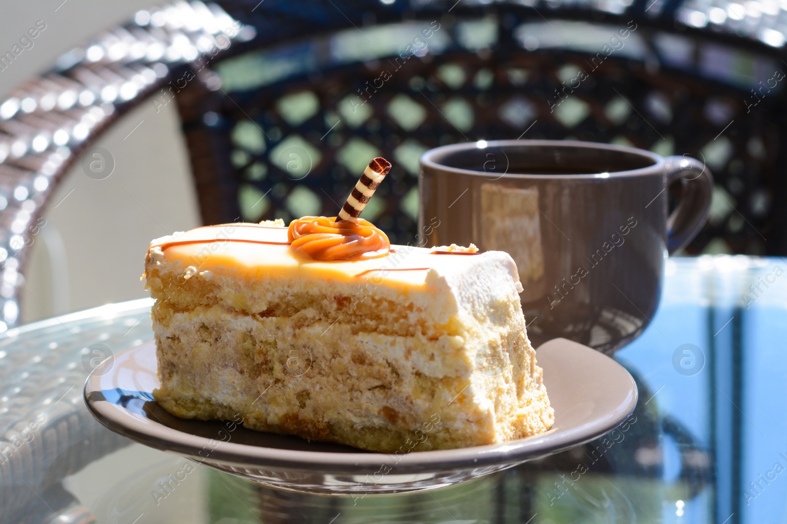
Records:
{"label": "glossy orange caramel swirl on top of the cake, without the wafer stick", "polygon": [[299,218],[290,222],[287,237],[297,255],[321,261],[378,258],[388,255],[391,245],[386,233],[362,218]]}

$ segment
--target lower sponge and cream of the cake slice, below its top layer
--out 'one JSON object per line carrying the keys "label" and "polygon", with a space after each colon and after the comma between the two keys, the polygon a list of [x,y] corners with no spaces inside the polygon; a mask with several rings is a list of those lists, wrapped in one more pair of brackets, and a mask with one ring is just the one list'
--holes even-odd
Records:
{"label": "lower sponge and cream of the cake slice, below its top layer", "polygon": [[183,312],[159,303],[153,318],[154,397],[183,418],[239,414],[255,430],[390,453],[425,423],[434,427],[418,450],[504,442],[552,425],[523,332],[495,334],[484,348],[499,350],[476,355],[453,335],[353,333],[342,321],[299,324],[220,306]]}

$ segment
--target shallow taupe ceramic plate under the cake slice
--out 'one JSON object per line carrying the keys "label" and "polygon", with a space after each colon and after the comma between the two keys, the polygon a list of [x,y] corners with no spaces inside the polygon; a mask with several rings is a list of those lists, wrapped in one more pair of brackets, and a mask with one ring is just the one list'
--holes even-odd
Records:
{"label": "shallow taupe ceramic plate under the cake slice", "polygon": [[282,489],[309,493],[403,493],[450,486],[558,453],[611,431],[634,411],[637,387],[610,357],[566,339],[536,351],[556,423],[530,438],[474,448],[368,453],[349,446],[247,430],[230,422],[182,420],[153,401],[153,342],[117,354],[85,384],[93,416],[136,442]]}

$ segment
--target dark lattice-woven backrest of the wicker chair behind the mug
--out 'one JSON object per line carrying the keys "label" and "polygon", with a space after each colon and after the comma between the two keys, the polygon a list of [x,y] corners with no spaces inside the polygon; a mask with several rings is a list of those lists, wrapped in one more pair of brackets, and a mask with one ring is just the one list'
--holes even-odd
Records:
{"label": "dark lattice-woven backrest of the wicker chair behind the mug", "polygon": [[220,90],[179,99],[198,184],[221,188],[201,191],[205,221],[335,214],[381,154],[366,213],[405,243],[427,148],[575,138],[708,163],[719,190],[689,253],[781,253],[778,25],[624,3],[224,2],[259,36],[216,66]]}

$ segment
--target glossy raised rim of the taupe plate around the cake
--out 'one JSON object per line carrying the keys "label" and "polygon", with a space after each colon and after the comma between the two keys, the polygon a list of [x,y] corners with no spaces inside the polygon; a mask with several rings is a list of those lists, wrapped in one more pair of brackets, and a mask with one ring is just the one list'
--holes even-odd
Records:
{"label": "glossy raised rim of the taupe plate around the cake", "polygon": [[[121,351],[115,356],[116,362],[120,356],[127,356],[134,352],[146,350],[151,345],[155,345],[153,340]],[[390,467],[387,475],[392,473],[446,471],[463,467],[492,466],[497,464],[516,464],[560,453],[566,449],[599,438],[623,423],[634,412],[634,408],[637,405],[639,392],[636,383],[634,383],[634,378],[619,362],[601,354],[597,350],[568,339],[552,339],[538,347],[536,350],[537,358],[538,352],[543,352],[544,350],[560,352],[565,351],[565,348],[570,348],[568,350],[570,353],[584,353],[586,357],[593,354],[595,356],[592,358],[608,359],[607,365],[624,374],[622,379],[625,379],[629,384],[629,391],[626,398],[623,398],[620,404],[615,406],[614,410],[607,412],[603,417],[582,423],[568,431],[563,431],[560,428],[556,429],[556,426],[553,426],[552,429],[543,434],[501,444],[419,451],[405,453],[400,456],[395,455],[395,453],[331,453],[326,451],[280,449],[239,444],[231,441],[216,441],[215,439],[176,430],[154,420],[148,419],[147,422],[142,422],[142,420],[137,418],[138,416],[127,409],[103,398],[96,398],[96,394],[100,394],[102,390],[99,386],[102,376],[96,370],[87,377],[83,389],[83,400],[91,415],[109,430],[124,435],[140,444],[170,453],[177,453],[201,463],[209,462],[239,467],[271,467],[289,471],[309,472],[314,472],[316,467],[319,467],[321,471],[349,474],[379,471],[383,465],[387,465]],[[547,370],[545,369],[546,373]],[[129,421],[137,422],[129,423]],[[150,426],[150,424],[153,424],[153,426]],[[155,430],[151,430],[151,427],[165,427],[168,431],[157,433]],[[563,434],[560,434],[561,431]],[[161,438],[162,433],[172,434],[173,437]],[[210,445],[211,441],[219,444],[212,446]],[[545,441],[547,442],[546,444]],[[198,455],[199,451],[208,449],[211,449],[208,457],[204,458]],[[396,460],[395,464],[390,464],[394,457],[397,457],[398,460]]]}

